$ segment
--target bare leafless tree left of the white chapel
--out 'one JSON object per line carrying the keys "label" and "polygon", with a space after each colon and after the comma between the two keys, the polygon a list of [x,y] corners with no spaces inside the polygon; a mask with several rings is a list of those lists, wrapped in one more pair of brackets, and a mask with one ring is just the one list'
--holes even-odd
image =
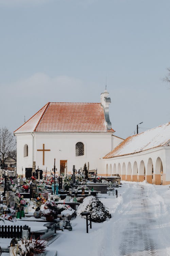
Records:
{"label": "bare leafless tree left of the white chapel", "polygon": [[0,166],[4,168],[8,157],[16,159],[16,139],[6,127],[0,128]]}

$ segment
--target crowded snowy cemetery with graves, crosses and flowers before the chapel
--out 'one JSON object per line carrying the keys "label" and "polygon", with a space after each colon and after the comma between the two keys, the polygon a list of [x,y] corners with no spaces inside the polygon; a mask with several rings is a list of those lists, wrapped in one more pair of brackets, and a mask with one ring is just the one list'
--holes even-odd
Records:
{"label": "crowded snowy cemetery with graves, crosses and flowers before the chapel", "polygon": [[118,174],[106,179],[86,167],[57,176],[55,159],[49,174],[35,162],[25,177],[0,169],[0,255],[60,255],[57,241],[69,231],[75,236],[80,219],[87,234],[112,217],[100,195],[117,198],[119,187]]}

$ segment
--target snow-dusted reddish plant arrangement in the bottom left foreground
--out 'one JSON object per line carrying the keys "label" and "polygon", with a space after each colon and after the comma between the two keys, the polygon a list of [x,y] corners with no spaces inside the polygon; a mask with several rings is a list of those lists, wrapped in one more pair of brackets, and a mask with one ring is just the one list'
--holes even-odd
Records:
{"label": "snow-dusted reddish plant arrangement in the bottom left foreground", "polygon": [[27,256],[28,254],[40,254],[44,253],[46,249],[47,241],[43,240],[26,240],[21,239],[18,241],[18,255]]}

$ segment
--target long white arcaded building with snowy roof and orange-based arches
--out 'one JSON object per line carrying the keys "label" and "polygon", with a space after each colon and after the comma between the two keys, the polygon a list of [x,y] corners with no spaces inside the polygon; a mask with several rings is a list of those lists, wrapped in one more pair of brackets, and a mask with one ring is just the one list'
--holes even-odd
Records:
{"label": "long white arcaded building with snowy roof and orange-based arches", "polygon": [[170,184],[170,122],[128,137],[104,160],[106,175],[122,180]]}

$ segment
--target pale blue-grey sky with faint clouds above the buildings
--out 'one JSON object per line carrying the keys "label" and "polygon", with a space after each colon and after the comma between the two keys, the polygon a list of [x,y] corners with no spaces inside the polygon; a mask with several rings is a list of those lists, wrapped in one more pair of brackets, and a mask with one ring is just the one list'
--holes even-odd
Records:
{"label": "pale blue-grey sky with faint clouds above the buildings", "polygon": [[170,0],[0,0],[0,126],[47,102],[100,102],[106,76],[115,135],[169,122],[169,12]]}

